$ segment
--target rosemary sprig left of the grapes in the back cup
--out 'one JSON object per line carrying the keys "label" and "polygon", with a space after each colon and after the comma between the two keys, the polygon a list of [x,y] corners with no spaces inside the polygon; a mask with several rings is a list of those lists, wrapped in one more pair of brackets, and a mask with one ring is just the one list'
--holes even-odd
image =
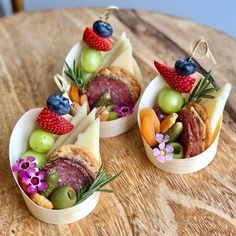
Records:
{"label": "rosemary sprig left of the grapes in the back cup", "polygon": [[86,90],[85,77],[86,72],[75,65],[75,60],[73,61],[73,67],[71,68],[65,61],[66,69],[65,74],[76,84],[79,90],[84,93]]}

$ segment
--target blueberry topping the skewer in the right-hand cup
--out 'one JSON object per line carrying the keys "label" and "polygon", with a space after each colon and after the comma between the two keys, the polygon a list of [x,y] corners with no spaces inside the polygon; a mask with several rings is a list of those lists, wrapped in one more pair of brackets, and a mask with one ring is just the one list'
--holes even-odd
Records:
{"label": "blueberry topping the skewer in the right-hand cup", "polygon": [[175,70],[180,75],[191,75],[197,70],[197,65],[193,59],[181,58],[175,62]]}

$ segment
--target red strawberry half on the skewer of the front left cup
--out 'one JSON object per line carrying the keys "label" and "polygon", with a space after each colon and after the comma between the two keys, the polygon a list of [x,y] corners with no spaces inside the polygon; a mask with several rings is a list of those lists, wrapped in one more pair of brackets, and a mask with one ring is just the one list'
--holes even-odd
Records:
{"label": "red strawberry half on the skewer of the front left cup", "polygon": [[57,135],[69,133],[74,128],[69,121],[46,107],[40,112],[36,124]]}

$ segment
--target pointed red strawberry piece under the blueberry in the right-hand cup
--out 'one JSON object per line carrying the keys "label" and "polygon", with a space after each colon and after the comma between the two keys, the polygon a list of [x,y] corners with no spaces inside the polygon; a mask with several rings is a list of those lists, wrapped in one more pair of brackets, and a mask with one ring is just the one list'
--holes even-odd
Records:
{"label": "pointed red strawberry piece under the blueberry in the right-hand cup", "polygon": [[157,61],[154,61],[154,65],[172,89],[180,93],[189,93],[192,90],[196,80],[194,77],[190,75],[180,75],[176,72],[175,68],[166,66]]}

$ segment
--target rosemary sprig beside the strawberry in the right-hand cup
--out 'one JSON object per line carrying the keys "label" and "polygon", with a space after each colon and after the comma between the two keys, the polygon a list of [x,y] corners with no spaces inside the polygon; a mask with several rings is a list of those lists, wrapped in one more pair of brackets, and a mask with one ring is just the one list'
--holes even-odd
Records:
{"label": "rosemary sprig beside the strawberry in the right-hand cup", "polygon": [[211,78],[211,70],[206,74],[206,76],[200,79],[193,89],[193,91],[189,94],[188,102],[200,102],[202,98],[215,98],[211,95],[212,92],[215,92],[216,89],[209,88],[209,85],[213,82]]}

